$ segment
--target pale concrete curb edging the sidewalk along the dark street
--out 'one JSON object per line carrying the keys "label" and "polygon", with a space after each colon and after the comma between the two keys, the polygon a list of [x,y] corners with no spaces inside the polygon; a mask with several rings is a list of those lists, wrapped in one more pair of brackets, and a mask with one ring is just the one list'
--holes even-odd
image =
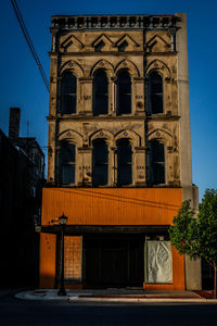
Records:
{"label": "pale concrete curb edging the sidewalk along the dark street", "polygon": [[69,293],[65,297],[59,297],[58,290],[50,290],[50,291],[23,291],[15,294],[15,298],[22,300],[39,300],[39,301],[71,301],[71,302],[123,302],[123,303],[208,303],[208,304],[217,304],[217,299],[205,299],[205,298],[130,298],[130,297],[114,297],[111,298],[110,296],[104,297],[91,297],[91,293]]}

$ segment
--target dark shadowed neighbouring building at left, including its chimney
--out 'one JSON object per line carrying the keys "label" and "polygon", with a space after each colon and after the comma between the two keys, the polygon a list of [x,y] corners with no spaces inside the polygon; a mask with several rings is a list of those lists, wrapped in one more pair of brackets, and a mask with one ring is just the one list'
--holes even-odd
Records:
{"label": "dark shadowed neighbouring building at left, including its chimney", "polygon": [[36,138],[20,137],[18,108],[11,108],[9,137],[0,130],[1,287],[37,286],[44,154]]}

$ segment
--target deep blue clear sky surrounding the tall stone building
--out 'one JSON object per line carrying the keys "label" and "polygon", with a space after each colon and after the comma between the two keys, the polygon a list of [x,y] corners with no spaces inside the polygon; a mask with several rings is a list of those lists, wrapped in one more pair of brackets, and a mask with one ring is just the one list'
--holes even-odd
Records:
{"label": "deep blue clear sky surrounding the tall stone building", "polygon": [[[217,188],[217,1],[215,0],[17,0],[37,54],[49,78],[54,14],[187,13],[193,183],[200,198]],[[10,0],[0,1],[0,128],[8,135],[9,108],[22,109],[21,136],[37,137],[47,151],[49,95],[15,18]]]}

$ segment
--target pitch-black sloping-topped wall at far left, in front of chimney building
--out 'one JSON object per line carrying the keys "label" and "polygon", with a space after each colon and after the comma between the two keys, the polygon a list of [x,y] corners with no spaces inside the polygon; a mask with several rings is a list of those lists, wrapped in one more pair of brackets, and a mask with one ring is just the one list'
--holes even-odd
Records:
{"label": "pitch-black sloping-topped wall at far left, in front of chimney building", "polygon": [[[33,197],[29,191],[33,163],[3,133],[0,133],[0,286],[36,286],[35,215],[41,197]],[[40,192],[41,187],[37,191]]]}

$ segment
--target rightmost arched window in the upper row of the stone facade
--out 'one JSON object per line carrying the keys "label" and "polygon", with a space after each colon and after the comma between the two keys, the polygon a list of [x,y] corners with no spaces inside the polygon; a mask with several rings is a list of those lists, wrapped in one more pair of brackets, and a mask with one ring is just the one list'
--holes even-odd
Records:
{"label": "rightmost arched window in the upper row of the stone facade", "polygon": [[163,113],[163,78],[156,72],[152,72],[149,77],[150,85],[150,109],[152,114]]}

